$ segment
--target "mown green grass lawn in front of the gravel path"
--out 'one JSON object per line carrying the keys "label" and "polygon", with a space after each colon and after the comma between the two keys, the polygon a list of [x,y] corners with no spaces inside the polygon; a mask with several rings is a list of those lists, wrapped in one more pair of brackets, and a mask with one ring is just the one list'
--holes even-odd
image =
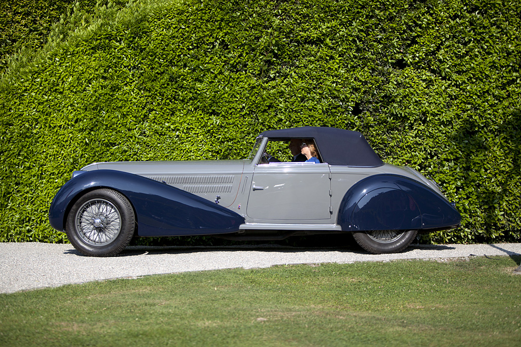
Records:
{"label": "mown green grass lawn in front of the gravel path", "polygon": [[228,269],[0,294],[0,345],[520,346],[520,260]]}

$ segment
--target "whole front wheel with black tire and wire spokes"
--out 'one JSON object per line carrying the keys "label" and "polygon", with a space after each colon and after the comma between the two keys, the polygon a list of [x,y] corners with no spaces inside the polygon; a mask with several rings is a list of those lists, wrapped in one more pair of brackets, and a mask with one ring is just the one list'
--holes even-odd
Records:
{"label": "whole front wheel with black tire and wire spokes", "polygon": [[118,254],[128,246],[134,229],[130,202],[111,189],[92,190],[79,198],[65,226],[72,246],[89,256]]}

